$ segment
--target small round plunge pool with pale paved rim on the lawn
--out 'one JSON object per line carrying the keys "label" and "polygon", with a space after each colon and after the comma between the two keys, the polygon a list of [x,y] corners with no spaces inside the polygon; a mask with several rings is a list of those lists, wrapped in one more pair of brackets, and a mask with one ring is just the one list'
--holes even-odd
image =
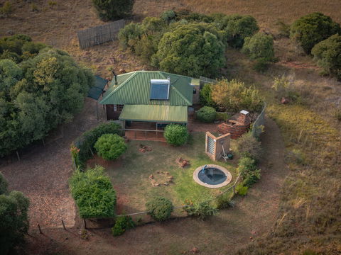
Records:
{"label": "small round plunge pool with pale paved rim on the lawn", "polygon": [[207,188],[220,188],[232,181],[232,175],[222,166],[208,164],[195,169],[193,179]]}

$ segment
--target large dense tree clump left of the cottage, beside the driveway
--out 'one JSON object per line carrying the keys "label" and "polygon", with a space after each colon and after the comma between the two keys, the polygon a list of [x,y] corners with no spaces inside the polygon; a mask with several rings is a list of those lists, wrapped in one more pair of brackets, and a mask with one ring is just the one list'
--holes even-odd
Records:
{"label": "large dense tree clump left of the cottage, beside the driveway", "polygon": [[0,45],[21,61],[0,60],[2,157],[70,121],[82,109],[94,78],[66,52],[31,42],[26,35],[4,38]]}

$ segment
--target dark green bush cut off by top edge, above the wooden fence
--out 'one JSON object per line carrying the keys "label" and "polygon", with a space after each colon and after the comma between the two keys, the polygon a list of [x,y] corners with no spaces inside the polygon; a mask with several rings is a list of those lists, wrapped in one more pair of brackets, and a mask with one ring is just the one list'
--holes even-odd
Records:
{"label": "dark green bush cut off by top edge, above the wooden fence", "polygon": [[103,21],[114,21],[130,16],[134,0],[92,0],[92,5]]}

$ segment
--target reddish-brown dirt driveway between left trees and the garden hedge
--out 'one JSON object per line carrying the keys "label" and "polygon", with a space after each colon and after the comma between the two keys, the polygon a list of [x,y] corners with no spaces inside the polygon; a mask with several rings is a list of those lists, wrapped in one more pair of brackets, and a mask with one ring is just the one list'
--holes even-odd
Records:
{"label": "reddish-brown dirt driveway between left trees and the garden hedge", "polygon": [[[99,113],[104,116],[102,111]],[[21,161],[0,167],[9,181],[9,188],[23,192],[30,199],[31,228],[36,228],[37,224],[41,227],[61,227],[62,219],[67,226],[75,224],[75,203],[67,183],[73,171],[70,144],[99,121],[95,101],[87,98],[82,113],[61,128],[64,132],[58,139],[45,146],[26,149],[21,154]],[[49,137],[46,140],[50,140]]]}

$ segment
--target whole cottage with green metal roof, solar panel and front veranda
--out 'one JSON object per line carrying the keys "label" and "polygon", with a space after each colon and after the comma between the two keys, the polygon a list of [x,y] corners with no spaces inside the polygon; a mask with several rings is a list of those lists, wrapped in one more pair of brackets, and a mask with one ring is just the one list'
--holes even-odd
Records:
{"label": "whole cottage with green metal roof, solar panel and front veranda", "polygon": [[162,132],[169,123],[188,123],[188,106],[199,103],[198,85],[197,79],[178,74],[129,72],[115,75],[100,103],[107,118],[122,120],[124,129]]}

